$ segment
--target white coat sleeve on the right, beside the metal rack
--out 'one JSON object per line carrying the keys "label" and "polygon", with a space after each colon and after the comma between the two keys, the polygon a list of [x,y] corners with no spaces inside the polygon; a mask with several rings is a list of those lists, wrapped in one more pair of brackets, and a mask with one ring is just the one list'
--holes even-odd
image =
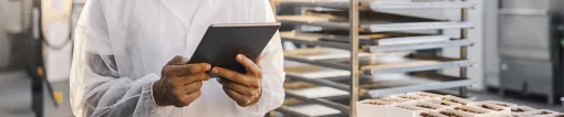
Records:
{"label": "white coat sleeve on the right, beside the metal rack", "polygon": [[[265,2],[267,22],[275,22],[270,3]],[[271,39],[264,51],[260,66],[262,70],[262,96],[255,105],[248,107],[238,107],[240,110],[253,116],[262,116],[268,111],[275,109],[282,105],[284,100],[284,56],[282,53],[282,44],[280,34],[276,32]]]}

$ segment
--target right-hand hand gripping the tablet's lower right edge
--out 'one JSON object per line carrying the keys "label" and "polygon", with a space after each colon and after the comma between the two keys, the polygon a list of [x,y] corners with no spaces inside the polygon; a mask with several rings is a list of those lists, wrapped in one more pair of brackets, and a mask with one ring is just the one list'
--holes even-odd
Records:
{"label": "right-hand hand gripping the tablet's lower right edge", "polygon": [[[262,94],[262,72],[259,66],[260,57],[254,62],[239,54],[237,61],[244,66],[247,74],[241,74],[222,67],[213,67],[211,72],[221,76],[217,78],[223,85],[223,92],[239,106],[247,107],[259,102]],[[257,64],[255,64],[257,63]]]}

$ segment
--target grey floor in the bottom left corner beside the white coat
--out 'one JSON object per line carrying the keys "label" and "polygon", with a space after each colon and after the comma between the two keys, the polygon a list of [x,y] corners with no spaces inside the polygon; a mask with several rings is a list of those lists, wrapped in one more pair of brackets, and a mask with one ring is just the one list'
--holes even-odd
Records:
{"label": "grey floor in the bottom left corner beside the white coat", "polygon": [[[44,117],[72,117],[69,103],[69,82],[53,83],[55,92],[63,93],[63,102],[59,107],[54,106],[49,95],[43,97]],[[44,89],[46,94],[46,89]],[[2,117],[34,117],[31,109],[31,78],[25,72],[0,73],[0,115]]]}

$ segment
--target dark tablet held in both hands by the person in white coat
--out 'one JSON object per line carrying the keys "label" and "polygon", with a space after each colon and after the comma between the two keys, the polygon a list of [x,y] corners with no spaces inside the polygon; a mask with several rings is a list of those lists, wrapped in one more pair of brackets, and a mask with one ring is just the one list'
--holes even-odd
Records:
{"label": "dark tablet held in both hands by the person in white coat", "polygon": [[280,23],[211,24],[188,63],[209,63],[246,74],[236,55],[257,60]]}

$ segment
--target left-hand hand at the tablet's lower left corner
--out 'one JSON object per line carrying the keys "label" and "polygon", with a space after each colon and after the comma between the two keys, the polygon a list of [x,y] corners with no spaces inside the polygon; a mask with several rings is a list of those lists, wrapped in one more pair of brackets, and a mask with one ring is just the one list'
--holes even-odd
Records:
{"label": "left-hand hand at the tablet's lower left corner", "polygon": [[160,79],[153,84],[153,96],[158,106],[184,107],[201,95],[202,81],[208,81],[208,63],[187,64],[188,59],[175,56],[161,71]]}

